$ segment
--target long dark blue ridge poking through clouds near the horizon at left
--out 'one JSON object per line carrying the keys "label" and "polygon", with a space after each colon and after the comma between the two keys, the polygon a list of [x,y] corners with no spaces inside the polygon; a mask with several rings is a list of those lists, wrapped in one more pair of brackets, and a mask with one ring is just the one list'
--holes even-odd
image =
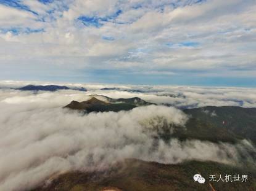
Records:
{"label": "long dark blue ridge poking through clouds near the horizon at left", "polygon": [[78,90],[86,92],[86,88],[79,87],[79,88],[69,88],[67,86],[60,86],[60,85],[26,85],[21,88],[16,88],[16,90],[22,90],[22,91],[50,91],[55,92],[57,90]]}

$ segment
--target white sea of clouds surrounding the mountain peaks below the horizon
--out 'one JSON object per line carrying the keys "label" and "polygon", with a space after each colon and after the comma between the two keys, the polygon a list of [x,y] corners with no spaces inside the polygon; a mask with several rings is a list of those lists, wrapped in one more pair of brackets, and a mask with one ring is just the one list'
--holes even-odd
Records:
{"label": "white sea of clouds surrounding the mountain peaks below the horizon", "polygon": [[[65,84],[83,86],[88,92],[35,93],[12,89],[26,83],[1,84],[0,190],[28,190],[54,174],[102,170],[125,158],[160,163],[210,160],[236,164],[241,155],[249,156],[243,148],[252,147],[247,141],[228,144],[199,140],[181,142],[174,138],[170,142],[159,139],[156,144],[155,125],[167,122],[182,128],[188,120],[188,116],[175,107],[151,105],[131,111],[86,115],[62,107],[72,100],[85,101],[91,94],[110,98],[138,96],[152,103],[177,104],[178,107],[240,106],[241,103],[244,107],[254,107],[254,89],[119,85],[123,90],[106,91],[100,89],[117,85],[99,84]],[[133,89],[144,92],[127,91]],[[166,93],[184,96],[173,98]]]}

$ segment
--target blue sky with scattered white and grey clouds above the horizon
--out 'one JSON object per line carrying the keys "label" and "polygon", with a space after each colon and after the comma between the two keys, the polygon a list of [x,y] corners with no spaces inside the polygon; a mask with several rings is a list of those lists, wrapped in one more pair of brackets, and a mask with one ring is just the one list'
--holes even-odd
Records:
{"label": "blue sky with scattered white and grey clouds above the horizon", "polygon": [[0,80],[256,87],[254,0],[0,0]]}

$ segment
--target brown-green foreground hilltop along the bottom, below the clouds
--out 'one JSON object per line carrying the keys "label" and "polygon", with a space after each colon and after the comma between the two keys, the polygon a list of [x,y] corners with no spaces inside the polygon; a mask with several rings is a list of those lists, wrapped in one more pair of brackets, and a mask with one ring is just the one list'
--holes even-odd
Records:
{"label": "brown-green foreground hilltop along the bottom, below the clouds", "polygon": [[[195,173],[205,177],[205,184],[194,182]],[[247,182],[209,182],[210,174],[247,174]],[[49,185],[31,191],[169,191],[169,190],[255,190],[256,173],[214,162],[185,162],[165,165],[155,162],[127,159],[111,166],[107,171],[61,174]],[[210,183],[210,184],[209,184]],[[111,189],[110,189],[111,188]],[[108,190],[108,191],[109,191]]]}

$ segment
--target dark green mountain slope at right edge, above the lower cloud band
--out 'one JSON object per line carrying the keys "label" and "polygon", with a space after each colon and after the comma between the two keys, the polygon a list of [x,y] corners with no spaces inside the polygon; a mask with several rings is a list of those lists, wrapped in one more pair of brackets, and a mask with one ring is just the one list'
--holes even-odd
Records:
{"label": "dark green mountain slope at right edge, above the lower cloud band", "polygon": [[[243,108],[234,106],[214,107],[207,106],[196,109],[186,109],[184,112],[192,116],[188,123],[188,130],[196,126],[199,130],[199,123],[207,124],[205,128],[212,127],[209,134],[216,134],[216,139],[223,136],[229,138],[250,139],[256,143],[256,108]],[[197,125],[191,125],[193,120],[197,120]],[[191,128],[191,129],[190,129]],[[221,133],[222,131],[222,133]],[[191,132],[192,133],[192,132]],[[222,134],[222,135],[221,135]],[[207,136],[207,134],[205,134]],[[212,135],[210,135],[212,136]]]}

